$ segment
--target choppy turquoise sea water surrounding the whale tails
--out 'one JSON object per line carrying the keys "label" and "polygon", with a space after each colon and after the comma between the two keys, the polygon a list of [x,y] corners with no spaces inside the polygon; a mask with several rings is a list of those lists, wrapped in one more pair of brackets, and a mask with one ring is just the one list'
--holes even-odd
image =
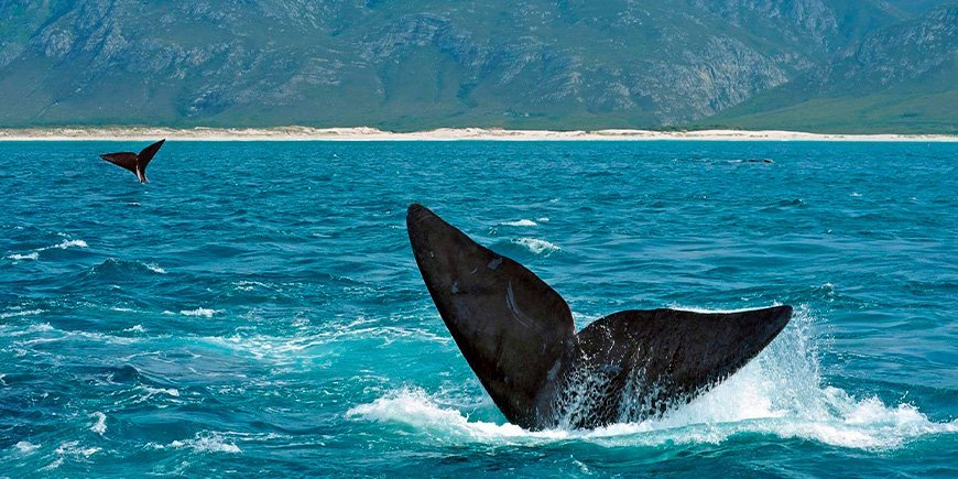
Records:
{"label": "choppy turquoise sea water surrounding the whale tails", "polygon": [[[958,475],[958,144],[168,142],[145,186],[97,157],[140,146],[0,143],[0,476]],[[412,202],[578,327],[796,315],[665,417],[522,431]]]}

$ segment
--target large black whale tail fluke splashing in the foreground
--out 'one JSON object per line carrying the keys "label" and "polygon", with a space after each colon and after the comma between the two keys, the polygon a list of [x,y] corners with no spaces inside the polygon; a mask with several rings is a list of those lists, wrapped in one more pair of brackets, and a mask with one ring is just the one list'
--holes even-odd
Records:
{"label": "large black whale tail fluke splashing in the foreground", "polygon": [[426,290],[479,382],[526,429],[596,428],[661,417],[741,369],[793,308],[610,314],[576,331],[563,297],[519,262],[425,206],[406,229]]}

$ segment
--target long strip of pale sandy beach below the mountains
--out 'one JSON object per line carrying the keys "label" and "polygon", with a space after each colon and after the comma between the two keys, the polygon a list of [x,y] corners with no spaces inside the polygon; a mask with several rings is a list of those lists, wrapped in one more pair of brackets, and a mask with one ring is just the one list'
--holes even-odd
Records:
{"label": "long strip of pale sandy beach below the mountains", "polygon": [[832,134],[783,130],[503,130],[440,128],[398,133],[357,128],[56,127],[0,129],[0,141],[850,141],[958,142],[954,134]]}

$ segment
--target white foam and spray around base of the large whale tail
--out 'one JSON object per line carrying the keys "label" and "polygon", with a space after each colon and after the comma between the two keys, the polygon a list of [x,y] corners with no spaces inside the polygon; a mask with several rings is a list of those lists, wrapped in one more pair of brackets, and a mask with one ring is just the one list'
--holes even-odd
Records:
{"label": "white foam and spray around base of the large whale tail", "polygon": [[347,417],[403,424],[449,442],[549,443],[583,440],[608,447],[718,444],[739,434],[815,440],[836,447],[886,450],[917,438],[958,433],[958,421],[936,423],[911,404],[886,405],[824,385],[799,311],[765,351],[707,394],[665,416],[597,429],[524,431],[512,424],[469,421],[416,388],[357,405]]}

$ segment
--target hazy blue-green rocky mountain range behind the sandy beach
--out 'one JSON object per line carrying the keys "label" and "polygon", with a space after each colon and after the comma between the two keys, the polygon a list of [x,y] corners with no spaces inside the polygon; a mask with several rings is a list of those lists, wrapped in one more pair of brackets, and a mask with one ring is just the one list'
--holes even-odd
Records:
{"label": "hazy blue-green rocky mountain range behind the sandy beach", "polygon": [[[0,0],[0,127],[760,128],[768,119],[814,131],[841,124],[816,120],[803,105],[814,111],[815,101],[837,101],[840,110],[856,100],[864,109],[899,105],[852,115],[868,120],[856,123],[862,131],[948,130],[955,115],[939,110],[956,110],[954,35],[899,40],[935,22],[951,21],[945,30],[954,31],[956,8],[932,0]],[[840,88],[849,75],[882,89],[861,99]]]}

